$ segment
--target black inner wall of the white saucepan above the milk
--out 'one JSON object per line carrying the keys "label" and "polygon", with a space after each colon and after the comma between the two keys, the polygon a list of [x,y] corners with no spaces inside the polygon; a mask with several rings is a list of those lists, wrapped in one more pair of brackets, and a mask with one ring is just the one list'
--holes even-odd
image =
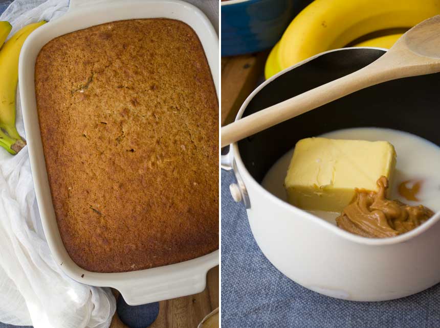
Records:
{"label": "black inner wall of the white saucepan above the milk", "polygon": [[[263,87],[244,116],[321,84],[357,71],[382,56],[375,49],[345,49],[313,59]],[[407,131],[440,145],[440,74],[375,85],[304,113],[238,143],[241,158],[255,180],[302,138],[354,127]]]}

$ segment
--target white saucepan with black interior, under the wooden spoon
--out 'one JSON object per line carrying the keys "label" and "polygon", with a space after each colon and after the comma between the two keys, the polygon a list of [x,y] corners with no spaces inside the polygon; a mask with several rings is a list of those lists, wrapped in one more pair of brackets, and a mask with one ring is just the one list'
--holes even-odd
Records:
{"label": "white saucepan with black interior, under the wooden spoon", "polygon": [[[252,92],[236,120],[357,71],[385,51],[333,50],[285,69]],[[440,74],[386,82],[230,145],[222,167],[235,174],[232,196],[246,206],[258,246],[279,271],[315,292],[357,301],[404,297],[440,282],[440,213],[398,237],[369,239],[306,213],[261,185],[299,139],[333,130],[392,128],[440,145],[439,88]]]}

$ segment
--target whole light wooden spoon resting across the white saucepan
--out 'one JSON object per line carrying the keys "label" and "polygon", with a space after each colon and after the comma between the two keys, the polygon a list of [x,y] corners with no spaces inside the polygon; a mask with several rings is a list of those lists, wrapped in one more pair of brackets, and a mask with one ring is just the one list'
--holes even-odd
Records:
{"label": "whole light wooden spoon resting across the white saucepan", "polygon": [[384,55],[359,71],[223,127],[222,147],[371,85],[438,72],[440,15],[410,29]]}

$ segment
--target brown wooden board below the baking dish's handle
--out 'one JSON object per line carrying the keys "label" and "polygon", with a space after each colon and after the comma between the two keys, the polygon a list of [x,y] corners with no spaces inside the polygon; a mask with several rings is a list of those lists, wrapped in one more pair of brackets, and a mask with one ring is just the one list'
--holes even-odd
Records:
{"label": "brown wooden board below the baking dish's handle", "polygon": [[[118,293],[117,291],[114,291]],[[218,308],[218,266],[208,271],[202,293],[159,302],[159,315],[150,328],[196,328]],[[110,328],[127,328],[115,314]]]}

